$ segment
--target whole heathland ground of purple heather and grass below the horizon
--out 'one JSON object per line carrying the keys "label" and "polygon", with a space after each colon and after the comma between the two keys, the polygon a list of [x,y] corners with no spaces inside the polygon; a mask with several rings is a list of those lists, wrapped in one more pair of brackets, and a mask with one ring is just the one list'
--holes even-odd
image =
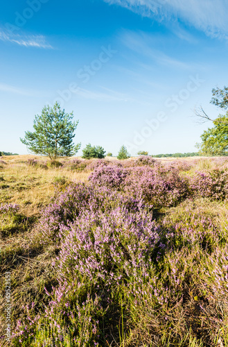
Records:
{"label": "whole heathland ground of purple heather and grass below the horizon", "polygon": [[228,158],[0,158],[0,345],[228,346]]}

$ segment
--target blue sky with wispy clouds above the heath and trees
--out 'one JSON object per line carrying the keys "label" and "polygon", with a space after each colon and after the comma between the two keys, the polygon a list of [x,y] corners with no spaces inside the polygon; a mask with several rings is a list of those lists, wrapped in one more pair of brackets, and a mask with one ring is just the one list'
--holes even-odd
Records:
{"label": "blue sky with wispy clouds above the heath and trees", "polygon": [[[58,100],[76,143],[116,155],[196,151],[228,80],[226,0],[8,0],[0,11],[0,150]],[[78,155],[81,154],[78,152]]]}

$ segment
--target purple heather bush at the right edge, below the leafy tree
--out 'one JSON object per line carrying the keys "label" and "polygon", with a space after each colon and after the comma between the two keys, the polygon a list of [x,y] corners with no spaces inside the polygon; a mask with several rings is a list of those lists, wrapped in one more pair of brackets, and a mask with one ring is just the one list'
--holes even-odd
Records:
{"label": "purple heather bush at the right edge, below the leafy tree", "polygon": [[228,194],[228,171],[213,169],[196,172],[191,178],[191,189],[203,197],[224,200]]}

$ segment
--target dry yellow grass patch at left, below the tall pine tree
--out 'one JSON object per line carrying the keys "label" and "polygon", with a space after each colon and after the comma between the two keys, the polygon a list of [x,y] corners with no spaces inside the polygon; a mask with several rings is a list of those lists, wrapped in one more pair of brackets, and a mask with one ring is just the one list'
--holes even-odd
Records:
{"label": "dry yellow grass patch at left, below the tall pine tree", "polygon": [[28,159],[48,160],[34,155],[15,155],[3,157],[6,164],[0,165],[0,205],[17,203],[20,212],[26,217],[39,214],[40,208],[50,202],[56,178],[64,178],[68,182],[85,182],[90,174],[62,167],[45,170],[28,165]]}

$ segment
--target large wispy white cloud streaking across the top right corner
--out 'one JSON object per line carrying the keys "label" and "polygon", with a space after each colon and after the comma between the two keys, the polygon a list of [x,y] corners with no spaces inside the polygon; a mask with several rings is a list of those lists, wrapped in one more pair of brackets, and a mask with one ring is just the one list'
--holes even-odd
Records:
{"label": "large wispy white cloud streaking across the top right corner", "polygon": [[104,0],[146,17],[179,18],[211,37],[228,38],[227,0]]}

